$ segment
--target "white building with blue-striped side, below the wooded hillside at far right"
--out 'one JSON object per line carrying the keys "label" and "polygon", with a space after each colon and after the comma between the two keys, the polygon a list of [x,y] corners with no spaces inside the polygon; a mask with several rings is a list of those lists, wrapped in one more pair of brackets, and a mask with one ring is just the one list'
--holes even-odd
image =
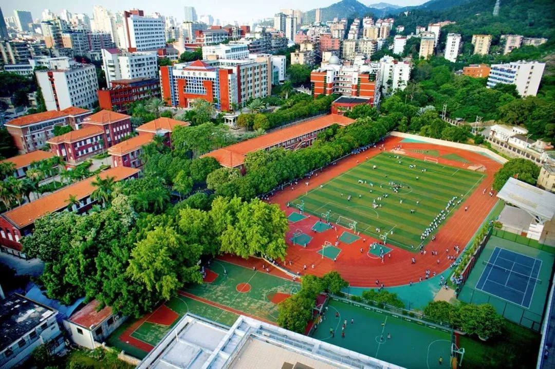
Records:
{"label": "white building with blue-striped side, below the wooded hillside at far right", "polygon": [[546,63],[522,60],[508,64],[492,64],[487,87],[491,88],[498,83],[514,84],[522,97],[536,96],[545,67]]}

